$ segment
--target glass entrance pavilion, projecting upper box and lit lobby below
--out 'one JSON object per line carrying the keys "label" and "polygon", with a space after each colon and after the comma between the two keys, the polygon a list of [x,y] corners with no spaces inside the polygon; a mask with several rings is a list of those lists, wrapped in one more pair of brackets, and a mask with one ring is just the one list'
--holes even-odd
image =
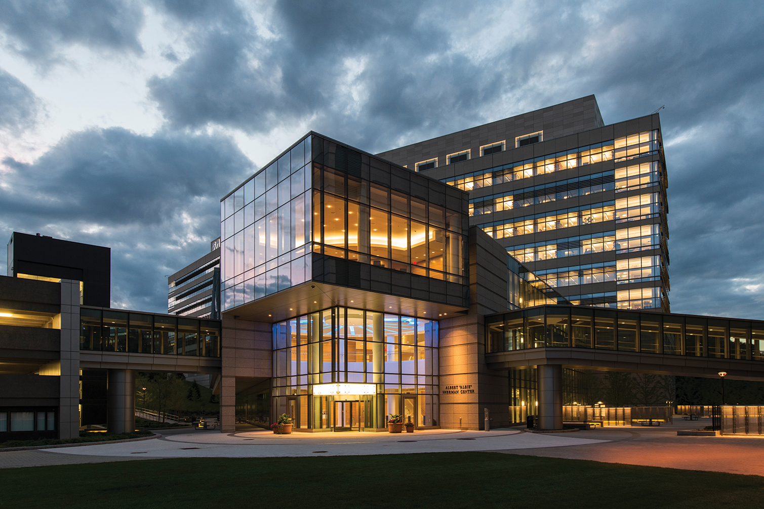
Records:
{"label": "glass entrance pavilion, projecting upper box and lit lobby below", "polygon": [[469,305],[467,211],[465,192],[313,133],[223,198],[222,311],[274,323],[272,416],[439,426],[437,319]]}

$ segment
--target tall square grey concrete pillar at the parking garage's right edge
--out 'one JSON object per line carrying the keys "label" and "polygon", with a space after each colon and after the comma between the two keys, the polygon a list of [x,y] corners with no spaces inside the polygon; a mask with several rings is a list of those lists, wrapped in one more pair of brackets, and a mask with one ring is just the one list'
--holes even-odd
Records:
{"label": "tall square grey concrete pillar at the parking garage's right edge", "polygon": [[58,437],[79,437],[79,281],[62,279]]}

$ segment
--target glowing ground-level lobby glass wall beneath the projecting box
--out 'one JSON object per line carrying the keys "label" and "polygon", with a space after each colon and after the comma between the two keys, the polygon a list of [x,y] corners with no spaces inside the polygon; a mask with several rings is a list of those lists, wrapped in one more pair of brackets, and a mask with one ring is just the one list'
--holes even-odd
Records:
{"label": "glowing ground-level lobby glass wall beneath the projecting box", "polygon": [[[273,341],[272,411],[297,428],[384,428],[391,414],[439,425],[437,321],[329,308],[274,324]],[[313,394],[332,383],[373,384],[375,393]]]}

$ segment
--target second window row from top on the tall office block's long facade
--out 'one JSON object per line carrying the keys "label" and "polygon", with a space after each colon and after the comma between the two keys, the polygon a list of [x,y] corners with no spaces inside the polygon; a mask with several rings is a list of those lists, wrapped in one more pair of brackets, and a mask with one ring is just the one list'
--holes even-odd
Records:
{"label": "second window row from top on the tall office block's long facade", "polygon": [[595,173],[575,179],[536,185],[497,195],[483,196],[470,200],[471,216],[508,211],[513,208],[539,205],[549,201],[566,200],[576,196],[591,195],[596,192],[612,191],[615,185],[613,172]]}

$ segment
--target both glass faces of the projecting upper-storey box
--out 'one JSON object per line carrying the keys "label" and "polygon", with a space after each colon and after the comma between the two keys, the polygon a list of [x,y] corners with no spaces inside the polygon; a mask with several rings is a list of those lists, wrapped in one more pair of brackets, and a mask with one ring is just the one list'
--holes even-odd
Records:
{"label": "both glass faces of the projecting upper-storey box", "polygon": [[223,311],[312,279],[311,252],[464,284],[463,204],[411,186],[306,136],[221,201]]}

